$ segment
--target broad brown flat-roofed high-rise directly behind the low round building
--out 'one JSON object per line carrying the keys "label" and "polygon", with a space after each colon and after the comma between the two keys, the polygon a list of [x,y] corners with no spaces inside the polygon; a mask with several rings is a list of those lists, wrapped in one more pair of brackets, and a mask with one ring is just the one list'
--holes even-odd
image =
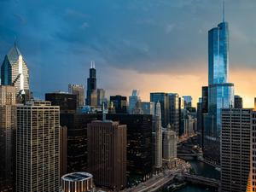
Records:
{"label": "broad brown flat-roofed high-rise directly behind the low round building", "polygon": [[126,125],[105,120],[88,125],[88,168],[97,186],[126,187]]}

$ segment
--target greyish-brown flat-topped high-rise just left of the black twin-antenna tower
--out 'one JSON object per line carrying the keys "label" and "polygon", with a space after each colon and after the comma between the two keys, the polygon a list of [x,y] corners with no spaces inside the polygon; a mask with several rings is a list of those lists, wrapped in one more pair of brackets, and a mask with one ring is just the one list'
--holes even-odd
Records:
{"label": "greyish-brown flat-topped high-rise just left of the black twin-antenna tower", "polygon": [[77,96],[77,108],[81,108],[84,106],[84,85],[68,84],[68,93]]}

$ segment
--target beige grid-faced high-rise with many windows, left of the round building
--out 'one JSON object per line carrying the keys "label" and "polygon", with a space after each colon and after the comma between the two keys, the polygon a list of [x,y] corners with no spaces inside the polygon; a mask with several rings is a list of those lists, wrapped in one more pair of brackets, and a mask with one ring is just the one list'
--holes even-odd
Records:
{"label": "beige grid-faced high-rise with many windows, left of the round building", "polygon": [[59,191],[60,107],[17,106],[16,191]]}

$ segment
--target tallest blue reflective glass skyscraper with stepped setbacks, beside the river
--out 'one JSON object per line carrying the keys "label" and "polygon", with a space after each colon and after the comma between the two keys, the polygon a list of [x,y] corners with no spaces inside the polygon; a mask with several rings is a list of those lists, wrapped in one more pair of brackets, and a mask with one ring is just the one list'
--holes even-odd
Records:
{"label": "tallest blue reflective glass skyscraper with stepped setbacks, beside the river", "polygon": [[208,113],[204,117],[204,157],[217,164],[222,108],[234,108],[234,84],[229,83],[229,26],[225,20],[208,32]]}

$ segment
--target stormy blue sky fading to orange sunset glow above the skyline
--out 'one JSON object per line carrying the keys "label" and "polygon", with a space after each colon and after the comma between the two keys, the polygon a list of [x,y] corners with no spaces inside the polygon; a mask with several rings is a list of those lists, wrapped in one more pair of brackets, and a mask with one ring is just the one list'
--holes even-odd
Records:
{"label": "stormy blue sky fading to orange sunset glow above the skyline", "polygon": [[[226,0],[230,82],[244,106],[256,96],[256,1]],[[207,85],[207,32],[222,21],[221,0],[0,0],[0,62],[14,45],[30,69],[31,90],[84,84],[90,61],[109,95],[140,90],[193,96]]]}

